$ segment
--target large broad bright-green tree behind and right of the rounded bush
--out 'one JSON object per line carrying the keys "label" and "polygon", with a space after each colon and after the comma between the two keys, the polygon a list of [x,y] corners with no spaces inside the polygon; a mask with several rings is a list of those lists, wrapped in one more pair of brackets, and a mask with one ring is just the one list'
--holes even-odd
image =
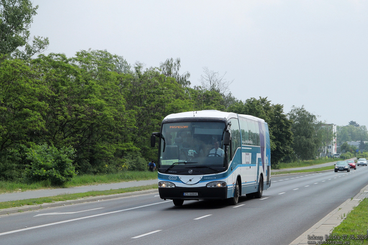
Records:
{"label": "large broad bright-green tree behind and right of the rounded bush", "polygon": [[[98,173],[104,165],[135,149],[131,141],[134,117],[114,72],[116,56],[106,51],[82,50],[75,57],[40,55],[32,61],[52,94],[45,99],[46,130],[39,134],[49,145],[72,145],[81,173]],[[117,163],[116,163],[117,164]]]}

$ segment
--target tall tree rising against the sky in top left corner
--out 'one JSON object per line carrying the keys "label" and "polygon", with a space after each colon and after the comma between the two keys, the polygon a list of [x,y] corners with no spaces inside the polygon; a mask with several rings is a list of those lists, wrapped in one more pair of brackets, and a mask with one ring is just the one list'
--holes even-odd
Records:
{"label": "tall tree rising against the sky in top left corner", "polygon": [[[28,59],[47,48],[47,37],[33,37],[32,44],[28,43],[28,29],[37,8],[38,5],[33,7],[29,0],[0,1],[0,54]],[[24,47],[24,50],[18,47]]]}

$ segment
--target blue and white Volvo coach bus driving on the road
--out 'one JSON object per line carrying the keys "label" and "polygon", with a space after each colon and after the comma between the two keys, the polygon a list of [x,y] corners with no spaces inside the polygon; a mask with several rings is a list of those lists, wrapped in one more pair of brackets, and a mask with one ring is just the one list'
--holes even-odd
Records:
{"label": "blue and white Volvo coach bus driving on the road", "polygon": [[270,187],[270,137],[265,120],[216,110],[166,116],[159,138],[158,186],[162,199],[261,198]]}

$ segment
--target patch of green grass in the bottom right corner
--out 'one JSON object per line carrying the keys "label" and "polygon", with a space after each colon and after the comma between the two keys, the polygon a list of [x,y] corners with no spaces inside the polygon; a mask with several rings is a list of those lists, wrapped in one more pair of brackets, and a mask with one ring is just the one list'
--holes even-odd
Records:
{"label": "patch of green grass in the bottom right corner", "polygon": [[339,224],[339,226],[333,229],[331,237],[338,236],[339,239],[328,239],[328,241],[343,242],[336,242],[335,244],[344,244],[344,242],[348,241],[350,245],[368,245],[367,229],[368,198],[364,198],[358,206],[356,206],[353,210],[351,210],[350,213],[348,213],[346,219],[343,220],[341,224]]}

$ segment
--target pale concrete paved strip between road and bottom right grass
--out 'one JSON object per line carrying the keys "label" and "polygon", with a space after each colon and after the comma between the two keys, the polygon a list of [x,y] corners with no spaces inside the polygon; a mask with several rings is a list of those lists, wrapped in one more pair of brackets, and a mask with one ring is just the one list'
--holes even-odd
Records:
{"label": "pale concrete paved strip between road and bottom right grass", "polygon": [[[308,241],[317,241],[317,239],[308,239],[311,236],[322,236],[323,241],[325,241],[325,235],[330,235],[332,233],[333,228],[338,226],[350,211],[358,206],[359,202],[362,199],[368,197],[368,185],[360,190],[360,192],[355,195],[353,199],[347,199],[344,203],[330,212],[328,215],[323,217],[320,221],[318,221],[314,226],[309,228],[303,234],[301,234],[297,239],[291,242],[289,245],[306,245]],[[320,241],[318,239],[318,241]]]}

